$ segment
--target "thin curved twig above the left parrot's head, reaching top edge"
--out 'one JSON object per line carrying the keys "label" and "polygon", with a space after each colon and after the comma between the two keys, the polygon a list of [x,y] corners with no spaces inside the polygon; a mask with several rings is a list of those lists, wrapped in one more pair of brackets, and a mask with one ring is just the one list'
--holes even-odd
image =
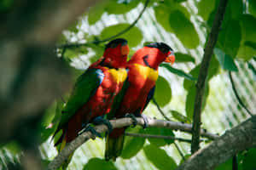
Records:
{"label": "thin curved twig above the left parrot's head, reaching top edge", "polygon": [[120,35],[124,34],[126,31],[129,31],[133,26],[135,26],[137,24],[137,21],[141,19],[141,17],[143,16],[144,11],[148,7],[148,3],[149,3],[149,0],[146,0],[143,10],[137,16],[137,19],[134,20],[131,23],[130,26],[127,26],[123,31],[119,31],[119,33],[113,35],[112,37],[107,37],[107,38],[102,39],[102,40],[96,40],[96,41],[84,42],[84,43],[65,43],[65,44],[56,45],[56,48],[79,48],[80,46],[86,46],[86,45],[90,45],[90,44],[98,44],[98,43],[102,43],[102,42],[108,42],[109,40],[112,40],[115,37],[119,37]]}

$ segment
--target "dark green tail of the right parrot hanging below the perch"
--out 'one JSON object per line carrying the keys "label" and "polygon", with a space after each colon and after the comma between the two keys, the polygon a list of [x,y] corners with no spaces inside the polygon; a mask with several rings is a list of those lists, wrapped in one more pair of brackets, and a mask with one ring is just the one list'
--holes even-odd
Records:
{"label": "dark green tail of the right parrot hanging below the perch", "polygon": [[125,128],[115,128],[106,135],[105,160],[115,161],[121,155],[125,139]]}

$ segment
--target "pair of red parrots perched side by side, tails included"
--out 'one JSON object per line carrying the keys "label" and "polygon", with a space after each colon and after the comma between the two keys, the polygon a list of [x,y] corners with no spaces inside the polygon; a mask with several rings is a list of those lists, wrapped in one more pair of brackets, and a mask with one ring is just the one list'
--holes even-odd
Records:
{"label": "pair of red parrots perched side by side, tails included", "polygon": [[[129,48],[125,39],[119,38],[106,45],[101,59],[90,65],[73,88],[65,105],[55,134],[62,130],[55,145],[63,147],[75,139],[79,131],[93,128],[88,124],[106,123],[127,113],[141,116],[154,94],[161,62],[174,62],[172,48],[163,42],[150,43],[137,50],[127,61]],[[95,132],[96,133],[96,132]],[[121,154],[125,127],[113,129],[107,135],[105,158],[115,160]]]}

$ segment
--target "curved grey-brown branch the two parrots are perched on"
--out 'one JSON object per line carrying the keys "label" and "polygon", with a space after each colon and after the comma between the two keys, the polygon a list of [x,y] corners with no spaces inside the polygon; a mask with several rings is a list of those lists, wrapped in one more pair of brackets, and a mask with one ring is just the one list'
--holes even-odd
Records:
{"label": "curved grey-brown branch the two parrots are perched on", "polygon": [[[111,120],[110,123],[112,124],[113,128],[117,127],[127,127],[130,126],[133,121],[131,118],[121,118],[116,120]],[[143,118],[137,118],[137,124],[143,126],[144,121]],[[162,120],[155,120],[152,118],[148,118],[148,127],[166,127],[173,130],[181,130],[183,132],[191,133],[192,126],[186,123],[180,122],[171,122],[171,121],[162,121]],[[108,127],[106,125],[99,125],[95,127],[98,133],[104,133],[108,131]],[[208,139],[218,139],[218,135],[207,133],[204,130],[201,130],[201,135],[207,137]],[[49,163],[48,169],[54,170],[61,166],[61,163],[67,159],[67,157],[73,153],[81,144],[84,144],[88,139],[94,139],[95,136],[92,135],[90,132],[82,133],[79,137],[74,139],[70,144],[61,150],[61,153],[55,157],[53,161]]]}

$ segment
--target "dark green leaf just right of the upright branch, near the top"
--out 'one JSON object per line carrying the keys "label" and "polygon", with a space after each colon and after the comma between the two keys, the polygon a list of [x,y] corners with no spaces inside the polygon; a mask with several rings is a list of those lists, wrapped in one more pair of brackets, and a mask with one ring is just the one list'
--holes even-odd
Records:
{"label": "dark green leaf just right of the upright branch, near the top", "polygon": [[237,20],[229,20],[219,33],[218,46],[233,59],[241,42],[241,26]]}

